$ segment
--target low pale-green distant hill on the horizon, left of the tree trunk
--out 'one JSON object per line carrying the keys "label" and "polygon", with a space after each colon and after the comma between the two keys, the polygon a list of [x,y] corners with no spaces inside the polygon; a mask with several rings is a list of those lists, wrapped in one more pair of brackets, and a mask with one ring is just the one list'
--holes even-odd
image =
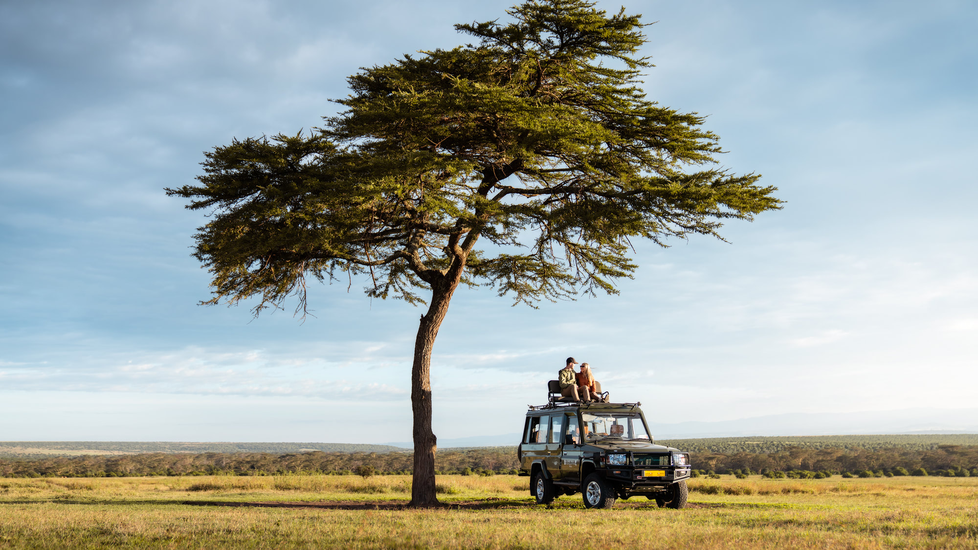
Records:
{"label": "low pale-green distant hill on the horizon, left of the tree trunk", "polygon": [[180,441],[0,441],[0,456],[42,458],[45,456],[126,455],[143,453],[267,452],[274,454],[308,451],[390,452],[404,451],[392,445],[360,443],[235,443]]}

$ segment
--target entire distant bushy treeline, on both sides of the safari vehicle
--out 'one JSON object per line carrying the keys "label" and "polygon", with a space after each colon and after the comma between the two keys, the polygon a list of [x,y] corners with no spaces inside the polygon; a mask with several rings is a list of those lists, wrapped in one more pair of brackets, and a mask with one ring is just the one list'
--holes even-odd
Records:
{"label": "entire distant bushy treeline, on both sides of the safari vehicle", "polygon": [[[843,437],[843,436],[840,436]],[[709,448],[729,449],[736,445],[770,445],[768,452],[733,450],[717,452],[699,450],[696,439],[668,441],[669,444],[691,452],[692,467],[703,472],[737,474],[744,472],[832,472],[835,474],[874,472],[883,474],[901,472],[944,473],[958,475],[978,468],[978,445],[935,444],[925,441],[903,441],[904,445],[880,446],[862,436],[864,446],[852,441],[848,446],[821,446],[809,441],[808,445],[782,443],[804,438],[777,438],[786,441],[765,443],[751,441],[714,440]],[[887,435],[879,437],[901,437]],[[921,437],[921,436],[907,436]],[[947,437],[942,435],[940,437]],[[855,436],[854,436],[855,438]],[[717,442],[719,441],[719,442]],[[662,441],[665,442],[665,441]],[[703,444],[703,443],[700,443]],[[729,446],[723,446],[729,445]],[[364,468],[362,468],[364,467]],[[435,468],[442,474],[513,473],[519,465],[515,447],[476,447],[444,449],[435,455]],[[112,456],[46,457],[36,460],[0,459],[2,477],[103,477],[103,476],[189,476],[234,475],[262,476],[279,474],[351,474],[364,469],[378,474],[410,473],[413,468],[411,452],[302,452],[302,453],[145,453]]]}

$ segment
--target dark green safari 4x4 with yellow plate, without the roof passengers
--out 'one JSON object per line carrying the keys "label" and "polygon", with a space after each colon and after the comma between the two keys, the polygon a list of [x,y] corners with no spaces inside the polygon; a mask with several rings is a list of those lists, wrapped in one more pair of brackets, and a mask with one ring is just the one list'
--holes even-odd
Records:
{"label": "dark green safari 4x4 with yellow plate, without the roof passengers", "polygon": [[580,491],[588,508],[611,508],[632,496],[685,507],[689,453],[652,442],[641,404],[530,406],[516,453],[537,503]]}

